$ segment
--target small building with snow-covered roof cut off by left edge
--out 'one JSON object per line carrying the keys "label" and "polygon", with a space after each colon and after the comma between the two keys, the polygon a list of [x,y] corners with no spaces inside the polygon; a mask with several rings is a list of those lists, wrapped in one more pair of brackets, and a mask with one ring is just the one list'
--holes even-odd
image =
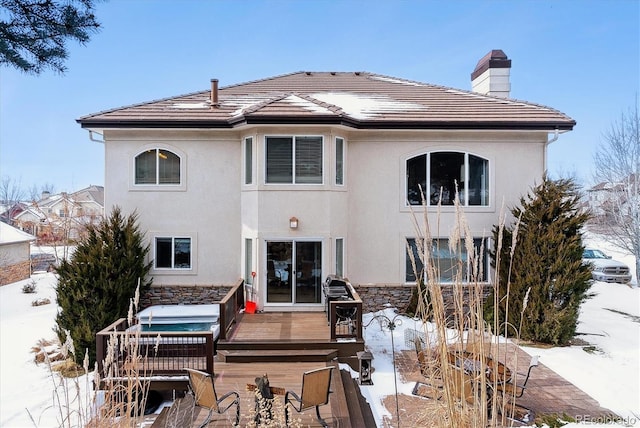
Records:
{"label": "small building with snow-covered roof cut off by left edge", "polygon": [[35,236],[0,222],[0,286],[29,278]]}

